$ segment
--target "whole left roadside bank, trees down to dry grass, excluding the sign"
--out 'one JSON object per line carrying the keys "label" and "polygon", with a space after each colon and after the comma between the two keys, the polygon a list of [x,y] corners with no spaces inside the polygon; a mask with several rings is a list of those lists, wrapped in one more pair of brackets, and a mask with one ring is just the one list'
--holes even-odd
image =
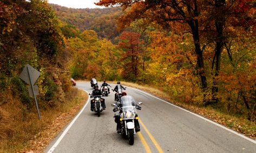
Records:
{"label": "whole left roadside bank, trees down to dry grass, excluding the sign", "polygon": [[[0,152],[18,152],[55,127],[58,122],[52,121],[63,113],[70,113],[70,120],[87,96],[71,87],[70,54],[47,2],[1,1],[0,12]],[[19,79],[26,64],[41,73],[36,82],[39,121],[28,85]],[[76,112],[71,111],[74,108]]]}

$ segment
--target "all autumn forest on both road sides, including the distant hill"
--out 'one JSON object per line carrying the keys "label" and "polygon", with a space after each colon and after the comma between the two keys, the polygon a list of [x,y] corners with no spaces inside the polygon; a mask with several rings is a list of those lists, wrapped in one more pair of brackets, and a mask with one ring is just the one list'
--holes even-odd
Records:
{"label": "all autumn forest on both road sides, including the distant hill", "polygon": [[238,117],[244,122],[238,131],[256,137],[255,1],[100,0],[97,5],[109,8],[0,2],[0,140],[15,139],[10,120],[27,122],[34,111],[18,78],[25,64],[41,72],[36,84],[44,110],[65,103],[70,78],[120,80]]}

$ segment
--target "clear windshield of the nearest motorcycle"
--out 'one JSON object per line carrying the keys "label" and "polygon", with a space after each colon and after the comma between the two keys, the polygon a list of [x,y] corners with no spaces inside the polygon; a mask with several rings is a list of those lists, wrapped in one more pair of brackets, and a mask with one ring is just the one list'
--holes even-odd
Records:
{"label": "clear windshield of the nearest motorcycle", "polygon": [[121,97],[122,112],[130,111],[130,112],[136,113],[135,106],[136,106],[136,103],[132,96],[126,95]]}

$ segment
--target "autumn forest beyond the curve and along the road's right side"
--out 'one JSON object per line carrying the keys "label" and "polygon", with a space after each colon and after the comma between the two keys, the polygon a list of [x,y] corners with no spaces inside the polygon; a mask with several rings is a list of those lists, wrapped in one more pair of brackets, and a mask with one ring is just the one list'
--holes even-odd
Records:
{"label": "autumn forest beyond the curve and along the road's right side", "polygon": [[[109,41],[95,29],[73,33],[66,44],[74,54],[72,77],[150,85],[176,100],[255,121],[255,2],[175,2],[100,1],[123,6],[122,14],[107,8],[118,15],[109,19],[117,20],[119,35]],[[67,25],[83,16],[70,9],[68,19],[67,8],[54,7]],[[81,25],[74,26],[81,31]]]}

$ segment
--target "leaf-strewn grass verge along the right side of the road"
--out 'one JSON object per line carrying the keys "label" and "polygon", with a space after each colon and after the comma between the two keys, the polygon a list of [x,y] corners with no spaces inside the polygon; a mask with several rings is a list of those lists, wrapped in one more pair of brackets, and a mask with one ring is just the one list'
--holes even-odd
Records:
{"label": "leaf-strewn grass verge along the right side of the road", "polygon": [[[111,83],[116,84],[116,82],[111,82]],[[176,106],[185,108],[195,114],[204,116],[209,120],[222,124],[223,126],[229,129],[233,129],[234,131],[237,131],[242,135],[245,135],[247,137],[250,137],[256,140],[256,123],[253,121],[248,121],[242,116],[241,117],[231,116],[231,115],[219,112],[218,110],[214,109],[211,106],[202,107],[199,105],[198,106],[189,105],[189,103],[185,103],[179,100],[174,100],[165,92],[162,92],[159,89],[150,87],[148,85],[143,86],[143,85],[138,85],[138,84],[124,82],[124,81],[122,81],[122,85],[141,89],[142,91],[148,92],[159,98],[165,99],[166,101],[173,103]]]}

